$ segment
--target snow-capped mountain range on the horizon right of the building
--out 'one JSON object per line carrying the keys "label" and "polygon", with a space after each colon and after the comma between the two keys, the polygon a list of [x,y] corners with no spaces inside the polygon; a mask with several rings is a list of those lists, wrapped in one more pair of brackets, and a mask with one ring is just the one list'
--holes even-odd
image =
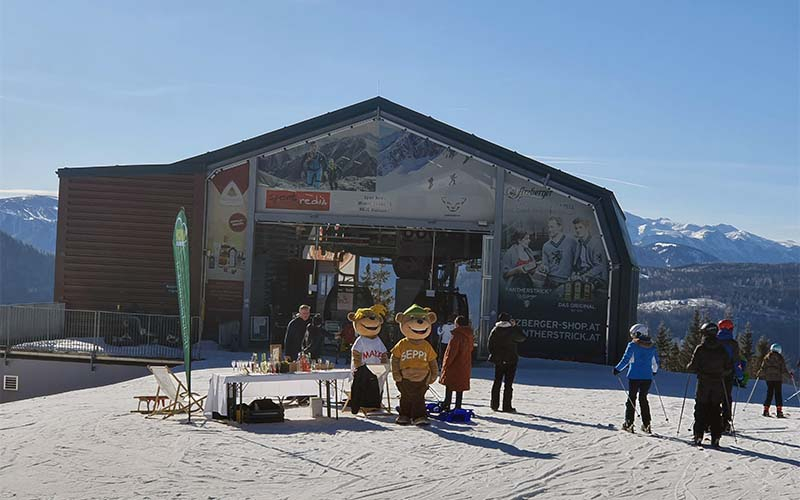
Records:
{"label": "snow-capped mountain range on the horizon right of the building", "polygon": [[800,262],[800,244],[778,242],[728,224],[698,226],[625,213],[642,266],[678,267],[714,262]]}

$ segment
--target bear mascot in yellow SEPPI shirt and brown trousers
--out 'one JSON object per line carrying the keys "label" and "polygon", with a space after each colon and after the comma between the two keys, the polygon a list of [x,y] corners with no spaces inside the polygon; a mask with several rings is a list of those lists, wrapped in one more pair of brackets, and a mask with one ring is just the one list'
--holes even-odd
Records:
{"label": "bear mascot in yellow SEPPI shirt and brown trousers", "polygon": [[392,348],[392,376],[400,391],[397,423],[428,425],[425,393],[436,380],[439,367],[436,351],[425,339],[436,323],[436,313],[413,304],[404,312],[397,313],[395,321],[405,337]]}

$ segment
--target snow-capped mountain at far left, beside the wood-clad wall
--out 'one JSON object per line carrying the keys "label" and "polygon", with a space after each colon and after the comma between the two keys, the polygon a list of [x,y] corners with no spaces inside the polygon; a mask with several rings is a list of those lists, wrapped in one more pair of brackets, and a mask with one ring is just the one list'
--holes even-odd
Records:
{"label": "snow-capped mountain at far left, beside the wood-clad wall", "polygon": [[0,231],[44,253],[56,251],[58,198],[18,196],[0,199]]}

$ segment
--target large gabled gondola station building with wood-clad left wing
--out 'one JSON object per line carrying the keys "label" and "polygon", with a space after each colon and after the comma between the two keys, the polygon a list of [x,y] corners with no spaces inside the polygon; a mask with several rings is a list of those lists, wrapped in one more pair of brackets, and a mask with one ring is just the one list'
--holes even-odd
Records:
{"label": "large gabled gondola station building with wood-clad left wing", "polygon": [[506,311],[522,355],[609,363],[636,319],[611,191],[381,97],[175,163],[58,175],[68,309],[176,314],[183,207],[192,315],[232,348],[280,343],[300,304],[336,332],[355,308],[417,303],[468,316],[482,354]]}

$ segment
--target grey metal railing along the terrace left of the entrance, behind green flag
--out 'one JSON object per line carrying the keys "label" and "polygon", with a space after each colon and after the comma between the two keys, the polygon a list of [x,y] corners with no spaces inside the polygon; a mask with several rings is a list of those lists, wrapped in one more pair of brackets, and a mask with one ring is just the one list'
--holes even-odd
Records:
{"label": "grey metal railing along the terrace left of the entrance, behind green flag", "polygon": [[[200,317],[193,316],[192,359]],[[63,304],[0,306],[0,346],[11,352],[183,359],[179,316],[66,309]]]}

